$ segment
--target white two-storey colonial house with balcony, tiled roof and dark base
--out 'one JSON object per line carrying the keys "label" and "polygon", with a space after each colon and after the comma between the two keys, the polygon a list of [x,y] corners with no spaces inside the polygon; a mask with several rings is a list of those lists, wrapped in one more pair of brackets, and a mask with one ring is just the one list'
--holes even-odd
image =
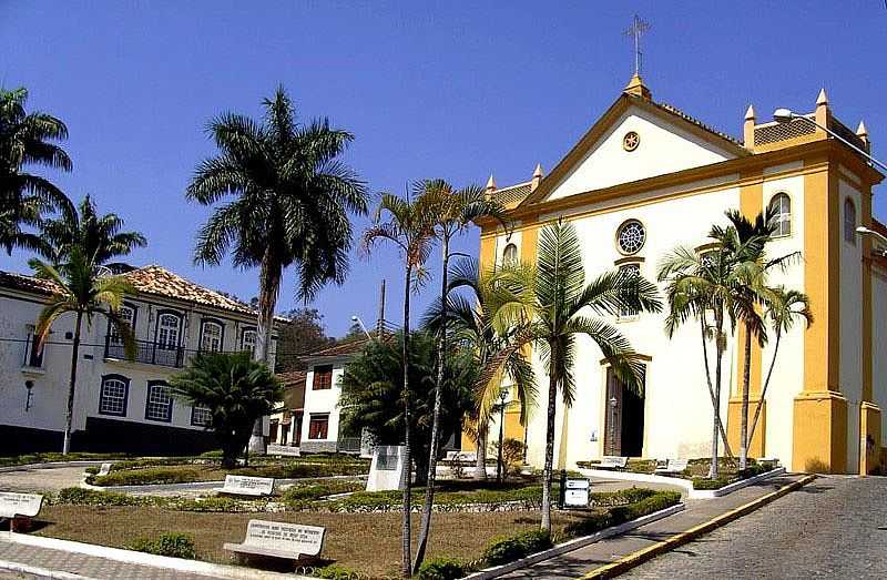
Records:
{"label": "white two-storey colonial house with balcony, tiled roof and dark base", "polygon": [[[137,291],[120,311],[135,332],[135,357],[126,358],[104,317],[84,323],[72,449],[176,455],[216,448],[207,409],[171,397],[167,380],[194,353],[252,352],[256,312],[161,266],[123,276]],[[0,272],[1,455],[61,450],[73,316],[53,325],[42,349],[33,335],[53,289],[51,282]]]}

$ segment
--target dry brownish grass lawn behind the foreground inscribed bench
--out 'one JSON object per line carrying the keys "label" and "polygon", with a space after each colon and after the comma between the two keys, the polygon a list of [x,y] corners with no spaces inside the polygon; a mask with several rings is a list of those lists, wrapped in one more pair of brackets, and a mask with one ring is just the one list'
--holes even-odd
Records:
{"label": "dry brownish grass lawn behind the foreground inscribed bench", "polygon": [[[554,530],[584,513],[554,511]],[[45,506],[39,518],[43,527],[34,533],[122,548],[140,537],[175,531],[194,538],[198,559],[233,563],[222,545],[243,541],[252,518],[324,526],[324,558],[370,576],[398,574],[399,513],[193,513],[149,507]],[[415,540],[418,513],[412,523]],[[536,529],[539,523],[539,511],[436,513],[428,556],[472,560],[493,537]]]}

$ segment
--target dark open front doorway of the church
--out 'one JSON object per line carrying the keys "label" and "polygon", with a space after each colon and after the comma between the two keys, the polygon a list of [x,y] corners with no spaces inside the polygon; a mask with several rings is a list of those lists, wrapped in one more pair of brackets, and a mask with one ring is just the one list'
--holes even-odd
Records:
{"label": "dark open front doorway of the church", "polygon": [[641,376],[640,393],[628,388],[606,368],[606,410],[604,413],[603,455],[641,457],[644,447],[644,383]]}

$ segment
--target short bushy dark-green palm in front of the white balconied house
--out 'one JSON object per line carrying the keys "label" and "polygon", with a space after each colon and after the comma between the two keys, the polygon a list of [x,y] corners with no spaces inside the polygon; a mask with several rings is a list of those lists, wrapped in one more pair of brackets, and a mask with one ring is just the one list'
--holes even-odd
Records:
{"label": "short bushy dark-green palm in front of the white balconied house", "polygon": [[256,419],[283,399],[281,380],[249,353],[197,353],[170,387],[177,398],[210,409],[207,428],[222,446],[223,467],[236,465]]}

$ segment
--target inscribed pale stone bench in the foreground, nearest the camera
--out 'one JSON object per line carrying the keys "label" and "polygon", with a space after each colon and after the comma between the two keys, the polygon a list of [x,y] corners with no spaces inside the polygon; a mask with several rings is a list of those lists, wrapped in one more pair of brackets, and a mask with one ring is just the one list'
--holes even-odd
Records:
{"label": "inscribed pale stone bench in the foreground, nearest the camera", "polygon": [[225,543],[222,548],[237,554],[298,560],[318,556],[325,533],[326,528],[319,526],[249,520],[243,543]]}

